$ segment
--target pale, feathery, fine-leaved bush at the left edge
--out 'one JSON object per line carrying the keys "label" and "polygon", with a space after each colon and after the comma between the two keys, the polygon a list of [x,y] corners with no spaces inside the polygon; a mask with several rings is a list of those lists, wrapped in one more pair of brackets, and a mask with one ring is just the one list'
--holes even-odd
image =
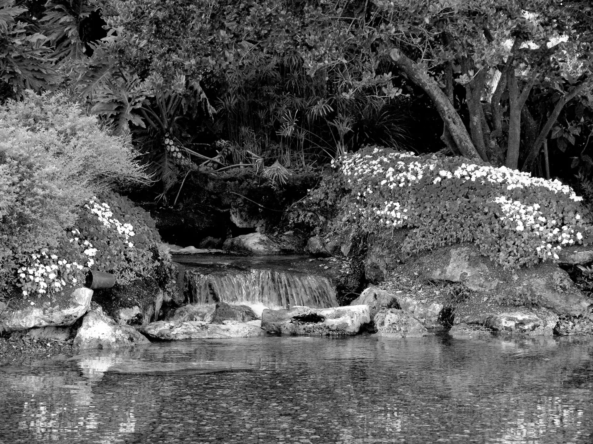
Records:
{"label": "pale, feathery, fine-leaved bush at the left edge", "polygon": [[[0,110],[0,292],[11,292],[18,276],[27,279],[19,287],[33,291],[39,279],[56,275],[56,260],[85,263],[69,242],[79,206],[112,186],[148,182],[134,157],[128,139],[109,136],[63,95],[29,91],[7,102]],[[37,285],[28,282],[29,269]],[[57,282],[79,272],[64,268]]]}

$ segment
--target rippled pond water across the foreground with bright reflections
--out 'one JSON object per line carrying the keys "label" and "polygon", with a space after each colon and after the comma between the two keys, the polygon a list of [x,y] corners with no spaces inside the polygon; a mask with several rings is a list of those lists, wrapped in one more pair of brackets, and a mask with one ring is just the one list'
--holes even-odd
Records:
{"label": "rippled pond water across the foreground with bright reflections", "polygon": [[0,367],[0,441],[591,443],[593,339],[189,340]]}

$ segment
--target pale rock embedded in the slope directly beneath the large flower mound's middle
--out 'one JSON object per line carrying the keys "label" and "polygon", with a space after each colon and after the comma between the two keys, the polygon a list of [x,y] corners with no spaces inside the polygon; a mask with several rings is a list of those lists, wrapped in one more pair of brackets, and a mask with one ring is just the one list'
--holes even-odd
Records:
{"label": "pale rock embedded in the slope directly beneath the large flower mound's middle", "polygon": [[490,276],[489,268],[483,260],[478,252],[469,247],[452,248],[447,267],[432,270],[429,277],[441,281],[463,281],[474,291],[489,291],[496,288],[499,281]]}

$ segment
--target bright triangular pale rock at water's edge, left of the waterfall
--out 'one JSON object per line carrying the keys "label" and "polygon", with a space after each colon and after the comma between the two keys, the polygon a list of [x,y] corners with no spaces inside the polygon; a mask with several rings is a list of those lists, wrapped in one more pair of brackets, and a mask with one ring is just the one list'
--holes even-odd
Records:
{"label": "bright triangular pale rock at water's edge, left of the waterfall", "polygon": [[81,349],[119,348],[149,342],[133,327],[118,326],[98,305],[82,319],[74,338],[74,346]]}

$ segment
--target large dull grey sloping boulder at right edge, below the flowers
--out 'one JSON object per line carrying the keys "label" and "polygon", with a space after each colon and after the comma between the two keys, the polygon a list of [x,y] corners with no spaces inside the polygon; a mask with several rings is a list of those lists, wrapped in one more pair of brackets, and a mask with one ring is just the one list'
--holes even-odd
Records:
{"label": "large dull grey sloping boulder at right edge, below the flowers", "polygon": [[537,298],[539,305],[559,314],[579,316],[593,303],[575,287],[568,272],[561,268],[541,269],[526,279],[523,285]]}

